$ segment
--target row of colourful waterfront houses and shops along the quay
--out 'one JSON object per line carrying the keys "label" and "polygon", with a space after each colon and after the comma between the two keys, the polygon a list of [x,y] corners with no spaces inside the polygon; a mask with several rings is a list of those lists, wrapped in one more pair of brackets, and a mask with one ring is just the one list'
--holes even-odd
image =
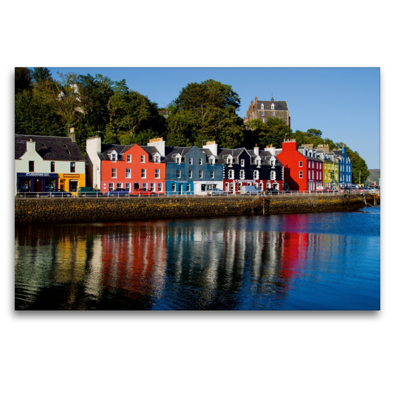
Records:
{"label": "row of colourful waterfront houses and shops along the quay", "polygon": [[77,193],[90,186],[101,192],[147,188],[155,193],[200,194],[212,188],[239,193],[241,186],[259,189],[313,191],[319,186],[345,187],[352,183],[352,164],[329,146],[297,146],[284,140],[281,148],[255,146],[223,149],[215,141],[197,146],[166,146],[163,138],[147,146],[86,140],[86,158],[68,138],[15,135],[15,192],[61,189]]}

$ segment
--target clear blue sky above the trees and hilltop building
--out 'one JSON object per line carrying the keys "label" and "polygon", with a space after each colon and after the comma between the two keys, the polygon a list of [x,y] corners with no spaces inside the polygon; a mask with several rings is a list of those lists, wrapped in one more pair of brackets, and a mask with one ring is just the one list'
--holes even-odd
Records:
{"label": "clear blue sky above the trees and hilltop building", "polygon": [[379,68],[48,68],[55,78],[57,71],[72,71],[125,79],[130,89],[160,107],[187,84],[214,79],[238,93],[241,117],[255,96],[270,100],[273,93],[275,100],[287,101],[293,131],[321,130],[323,138],[344,142],[357,151],[368,168],[380,168]]}

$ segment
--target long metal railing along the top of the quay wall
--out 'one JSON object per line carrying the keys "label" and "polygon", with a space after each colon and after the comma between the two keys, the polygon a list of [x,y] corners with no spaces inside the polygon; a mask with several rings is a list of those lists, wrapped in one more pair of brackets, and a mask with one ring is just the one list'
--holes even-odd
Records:
{"label": "long metal railing along the top of the quay wall", "polygon": [[[113,194],[113,195],[112,195]],[[269,192],[264,193],[262,190],[257,193],[253,193],[251,195],[249,194],[242,194],[241,192],[236,192],[235,194],[225,192],[225,193],[216,193],[215,195],[212,195],[212,193],[208,194],[206,192],[201,192],[201,193],[194,193],[190,191],[184,191],[184,192],[179,192],[179,191],[167,191],[167,192],[151,192],[151,193],[106,193],[106,195],[103,195],[102,193],[87,193],[87,195],[78,195],[78,193],[70,193],[70,192],[35,192],[35,191],[28,191],[28,192],[18,192],[15,194],[16,198],[56,198],[56,199],[82,199],[83,197],[87,198],[107,198],[107,199],[112,199],[112,198],[141,198],[141,197],[165,197],[165,198],[193,198],[193,197],[202,197],[202,198],[211,198],[211,197],[253,197],[253,200],[258,199],[259,197],[280,197],[280,196],[304,196],[304,197],[310,197],[310,196],[320,196],[320,195],[340,195],[340,194],[374,194],[380,197],[380,190],[362,190],[362,189],[357,189],[357,190],[333,190],[333,191],[280,191],[279,194],[272,193],[270,194]]]}

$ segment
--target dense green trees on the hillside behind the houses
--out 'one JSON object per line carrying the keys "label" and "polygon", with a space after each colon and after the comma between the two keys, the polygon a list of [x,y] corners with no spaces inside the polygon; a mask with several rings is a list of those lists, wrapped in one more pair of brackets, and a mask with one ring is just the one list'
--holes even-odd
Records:
{"label": "dense green trees on the hillside behind the houses", "polygon": [[[156,103],[127,87],[126,81],[108,77],[58,74],[54,80],[46,67],[15,68],[15,134],[68,136],[75,128],[76,140],[84,153],[85,140],[100,135],[106,143],[146,145],[151,138],[164,137],[168,146],[201,146],[216,140],[220,147],[255,144],[281,146],[284,138],[299,144],[335,143],[322,138],[322,132],[292,130],[280,119],[265,123],[255,119],[243,124],[237,114],[240,98],[229,85],[207,80],[184,87],[168,106],[168,117]],[[365,182],[369,172],[365,160],[347,147],[352,160],[354,182]]]}

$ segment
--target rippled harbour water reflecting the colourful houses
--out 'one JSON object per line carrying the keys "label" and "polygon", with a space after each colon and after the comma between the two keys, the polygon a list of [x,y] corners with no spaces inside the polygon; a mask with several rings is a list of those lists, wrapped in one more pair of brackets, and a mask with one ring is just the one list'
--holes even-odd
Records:
{"label": "rippled harbour water reflecting the colourful houses", "polygon": [[15,227],[15,309],[379,308],[379,206]]}

